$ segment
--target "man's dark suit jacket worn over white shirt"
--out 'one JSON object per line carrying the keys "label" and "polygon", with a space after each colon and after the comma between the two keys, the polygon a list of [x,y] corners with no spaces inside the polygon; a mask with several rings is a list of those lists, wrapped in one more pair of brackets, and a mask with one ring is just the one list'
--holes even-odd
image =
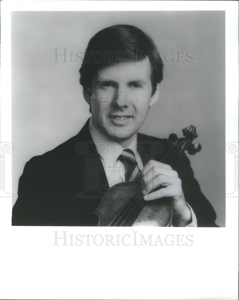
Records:
{"label": "man's dark suit jacket worn over white shirt", "polygon": [[[144,165],[160,161],[168,149],[165,140],[138,133]],[[169,163],[182,180],[186,202],[198,226],[216,226],[216,213],[200,190],[185,154]],[[12,225],[96,226],[93,211],[109,188],[104,167],[89,133],[89,120],[81,131],[55,149],[31,158],[19,179]]]}

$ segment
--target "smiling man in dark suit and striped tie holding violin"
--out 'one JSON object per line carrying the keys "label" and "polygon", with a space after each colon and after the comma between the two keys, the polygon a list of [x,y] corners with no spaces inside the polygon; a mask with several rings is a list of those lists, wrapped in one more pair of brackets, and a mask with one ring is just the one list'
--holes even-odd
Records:
{"label": "smiling man in dark suit and striped tie holding violin", "polygon": [[158,100],[162,70],[153,41],[134,26],[111,26],[89,41],[80,83],[92,117],[75,137],[26,163],[13,225],[97,226],[94,211],[109,187],[140,178],[145,201],[171,204],[172,226],[216,226],[186,155],[164,164],[167,143],[138,133]]}

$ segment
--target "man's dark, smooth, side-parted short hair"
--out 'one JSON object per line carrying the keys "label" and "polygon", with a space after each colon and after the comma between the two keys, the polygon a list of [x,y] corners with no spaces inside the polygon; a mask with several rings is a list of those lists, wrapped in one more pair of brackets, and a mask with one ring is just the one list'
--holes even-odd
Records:
{"label": "man's dark, smooth, side-parted short hair", "polygon": [[119,62],[149,60],[152,95],[163,79],[163,62],[153,40],[132,25],[114,25],[102,29],[89,41],[80,68],[80,84],[86,91],[98,70]]}

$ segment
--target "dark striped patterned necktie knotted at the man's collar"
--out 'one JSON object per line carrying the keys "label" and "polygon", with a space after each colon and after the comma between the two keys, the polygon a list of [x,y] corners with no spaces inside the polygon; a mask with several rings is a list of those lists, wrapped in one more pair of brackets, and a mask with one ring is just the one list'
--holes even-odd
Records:
{"label": "dark striped patterned necktie knotted at the man's collar", "polygon": [[125,165],[125,181],[137,182],[139,180],[140,169],[135,160],[134,152],[130,149],[124,149],[119,155],[118,160]]}

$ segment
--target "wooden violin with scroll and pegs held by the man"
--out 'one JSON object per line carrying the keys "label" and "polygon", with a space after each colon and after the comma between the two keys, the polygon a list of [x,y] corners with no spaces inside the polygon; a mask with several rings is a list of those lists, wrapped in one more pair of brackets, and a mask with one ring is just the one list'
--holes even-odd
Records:
{"label": "wooden violin with scroll and pegs held by the man", "polygon": [[[169,150],[160,162],[167,164],[175,156],[184,151],[190,155],[201,151],[199,143],[192,141],[198,137],[196,127],[190,125],[182,130],[183,136],[170,134],[164,139]],[[164,188],[160,186],[157,190]],[[145,201],[144,194],[137,184],[121,182],[110,187],[104,194],[99,207],[94,211],[98,215],[98,226],[161,226],[172,224],[173,211],[166,198]]]}

